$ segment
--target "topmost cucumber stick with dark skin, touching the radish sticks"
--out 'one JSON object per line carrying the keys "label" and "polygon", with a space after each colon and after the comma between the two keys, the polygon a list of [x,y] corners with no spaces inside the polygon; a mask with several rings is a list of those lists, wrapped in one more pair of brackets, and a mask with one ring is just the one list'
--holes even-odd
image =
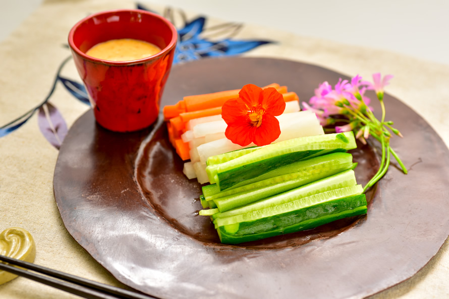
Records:
{"label": "topmost cucumber stick with dark skin, touching the radish sticks", "polygon": [[206,172],[209,180],[216,182],[222,191],[296,161],[353,148],[356,142],[352,131],[301,137],[269,144],[228,162],[207,166]]}

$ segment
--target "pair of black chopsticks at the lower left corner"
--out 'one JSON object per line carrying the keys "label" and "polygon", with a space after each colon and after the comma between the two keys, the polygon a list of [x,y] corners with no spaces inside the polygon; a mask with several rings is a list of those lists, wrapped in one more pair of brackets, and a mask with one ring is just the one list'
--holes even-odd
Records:
{"label": "pair of black chopsticks at the lower left corner", "polygon": [[[115,286],[99,283],[89,279],[81,278],[72,274],[60,272],[45,268],[33,263],[28,263],[18,259],[10,258],[4,255],[0,255],[0,261],[9,263],[11,265],[20,266],[22,268],[35,271],[37,273],[26,271],[21,268],[17,268],[8,264],[0,262],[0,270],[5,270],[13,274],[23,276],[34,281],[59,288],[61,290],[82,296],[85,298],[99,299],[99,298],[135,298],[135,299],[148,299],[155,298],[150,295],[138,293],[122,289]],[[39,274],[38,274],[39,273]],[[48,276],[44,276],[45,274]],[[57,279],[54,279],[54,278]]]}

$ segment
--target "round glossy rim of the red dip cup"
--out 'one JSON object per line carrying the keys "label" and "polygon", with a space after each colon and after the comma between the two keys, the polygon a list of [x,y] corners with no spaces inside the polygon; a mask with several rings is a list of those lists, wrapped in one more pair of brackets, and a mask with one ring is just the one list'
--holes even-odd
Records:
{"label": "round glossy rim of the red dip cup", "polygon": [[[144,15],[148,15],[148,16],[151,16],[151,17],[161,20],[173,32],[173,36],[172,36],[172,39],[170,40],[170,43],[167,44],[163,49],[161,49],[159,52],[157,52],[154,55],[151,55],[151,56],[148,56],[145,58],[141,58],[141,59],[127,60],[127,61],[113,61],[113,60],[105,60],[105,59],[95,58],[90,55],[87,55],[86,53],[81,51],[77,46],[75,46],[73,36],[75,34],[75,31],[80,27],[81,24],[83,24],[84,22],[86,22],[92,18],[98,17],[98,16],[114,15],[114,14],[120,14],[120,13],[144,14]],[[145,10],[134,10],[134,9],[107,10],[107,11],[101,11],[98,13],[91,14],[91,15],[81,19],[80,21],[78,21],[70,29],[70,32],[69,32],[69,46],[72,49],[72,51],[74,51],[77,55],[80,55],[81,57],[83,57],[83,59],[90,60],[90,61],[93,61],[96,63],[102,63],[102,64],[107,64],[107,65],[116,65],[116,66],[120,66],[120,65],[126,66],[126,65],[131,65],[131,64],[145,63],[145,62],[157,59],[157,58],[165,55],[167,52],[170,52],[170,50],[172,50],[176,46],[177,41],[178,41],[178,31],[176,30],[175,25],[173,25],[169,20],[167,20],[155,13],[151,13],[151,12],[148,12]]]}

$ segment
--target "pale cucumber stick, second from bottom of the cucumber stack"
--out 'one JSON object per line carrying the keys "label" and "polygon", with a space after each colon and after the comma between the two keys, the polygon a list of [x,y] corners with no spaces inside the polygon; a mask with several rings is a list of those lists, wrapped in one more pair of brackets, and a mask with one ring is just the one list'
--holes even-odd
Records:
{"label": "pale cucumber stick, second from bottom of the cucumber stack", "polygon": [[[280,194],[276,194],[229,211],[215,213],[213,217],[214,219],[229,218],[242,214],[255,213],[262,209],[274,208],[278,205],[286,204],[288,202],[301,200],[302,198],[307,198],[314,194],[324,194],[324,192],[332,191],[334,189],[352,188],[345,189],[345,192],[348,192],[344,194],[345,197],[357,195],[362,192],[359,190],[359,187],[356,184],[357,182],[354,171],[346,170],[344,172],[326,177],[313,183]],[[323,200],[325,200],[325,198],[323,198]]]}

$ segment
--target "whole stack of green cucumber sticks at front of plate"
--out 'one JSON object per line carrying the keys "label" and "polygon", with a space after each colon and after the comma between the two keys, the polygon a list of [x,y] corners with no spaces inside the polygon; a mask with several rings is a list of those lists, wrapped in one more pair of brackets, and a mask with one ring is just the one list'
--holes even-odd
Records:
{"label": "whole stack of green cucumber sticks at front of plate", "polygon": [[352,131],[294,138],[210,157],[203,210],[222,243],[312,229],[367,212]]}

